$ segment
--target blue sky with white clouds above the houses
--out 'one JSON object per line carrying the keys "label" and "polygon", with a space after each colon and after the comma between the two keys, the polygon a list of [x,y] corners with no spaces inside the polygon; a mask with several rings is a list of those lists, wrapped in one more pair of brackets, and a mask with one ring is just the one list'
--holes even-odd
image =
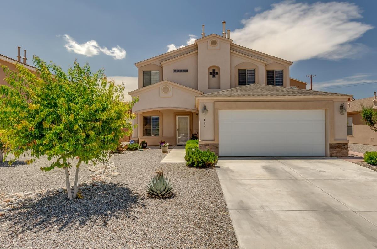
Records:
{"label": "blue sky with white clouds above the houses", "polygon": [[[314,89],[371,97],[377,83],[377,1],[7,1],[0,53],[17,46],[67,68],[77,59],[105,68],[135,89],[135,62],[190,43],[189,35],[221,34],[234,43],[294,61],[290,76]],[[192,41],[191,41],[192,42]],[[174,44],[174,45],[171,45]],[[376,81],[377,82],[377,81]]]}

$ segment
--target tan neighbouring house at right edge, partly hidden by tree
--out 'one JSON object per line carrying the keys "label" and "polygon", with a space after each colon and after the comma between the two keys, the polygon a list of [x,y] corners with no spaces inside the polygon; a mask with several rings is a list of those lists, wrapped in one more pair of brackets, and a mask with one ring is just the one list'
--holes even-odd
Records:
{"label": "tan neighbouring house at right edge, partly hidden by tree", "polygon": [[352,100],[347,103],[347,139],[349,143],[377,145],[377,132],[364,125],[362,106],[377,110],[376,97]]}

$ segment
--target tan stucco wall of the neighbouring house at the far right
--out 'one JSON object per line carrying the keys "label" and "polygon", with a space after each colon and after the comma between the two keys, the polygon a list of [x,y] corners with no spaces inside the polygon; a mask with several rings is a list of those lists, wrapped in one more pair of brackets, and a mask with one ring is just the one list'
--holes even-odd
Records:
{"label": "tan stucco wall of the neighbouring house at the far right", "polygon": [[353,135],[347,136],[349,143],[377,145],[377,132],[364,125],[360,113],[347,114],[347,117],[352,117],[353,126]]}

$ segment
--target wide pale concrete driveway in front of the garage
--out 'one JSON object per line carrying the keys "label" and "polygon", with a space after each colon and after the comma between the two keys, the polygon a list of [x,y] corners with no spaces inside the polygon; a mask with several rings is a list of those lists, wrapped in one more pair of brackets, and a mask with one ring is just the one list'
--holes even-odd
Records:
{"label": "wide pale concrete driveway in front of the garage", "polygon": [[240,248],[376,248],[377,172],[332,158],[219,158]]}

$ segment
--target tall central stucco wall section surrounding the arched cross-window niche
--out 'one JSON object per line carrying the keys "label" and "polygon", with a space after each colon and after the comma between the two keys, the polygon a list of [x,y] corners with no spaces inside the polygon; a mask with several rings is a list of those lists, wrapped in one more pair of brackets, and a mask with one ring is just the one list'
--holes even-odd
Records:
{"label": "tall central stucco wall section surrounding the arched cross-window niche", "polygon": [[[209,42],[216,39],[217,46],[212,47]],[[211,93],[230,88],[230,40],[210,37],[198,41],[198,90]],[[208,68],[217,66],[221,70],[220,88],[208,88]]]}

